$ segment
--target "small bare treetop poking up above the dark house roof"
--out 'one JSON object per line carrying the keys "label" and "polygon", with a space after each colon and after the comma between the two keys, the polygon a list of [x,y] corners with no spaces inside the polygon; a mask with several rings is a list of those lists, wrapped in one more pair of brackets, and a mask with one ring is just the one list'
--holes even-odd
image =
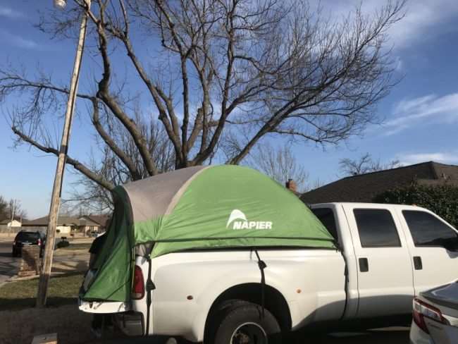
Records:
{"label": "small bare treetop poking up above the dark house roof", "polygon": [[389,168],[396,168],[401,167],[401,163],[399,160],[395,159],[392,161],[388,161],[386,164],[382,164],[380,159],[373,160],[371,154],[366,153],[362,155],[359,159],[341,159],[339,161],[340,171],[345,176],[357,176],[359,174],[376,172],[387,170]]}

